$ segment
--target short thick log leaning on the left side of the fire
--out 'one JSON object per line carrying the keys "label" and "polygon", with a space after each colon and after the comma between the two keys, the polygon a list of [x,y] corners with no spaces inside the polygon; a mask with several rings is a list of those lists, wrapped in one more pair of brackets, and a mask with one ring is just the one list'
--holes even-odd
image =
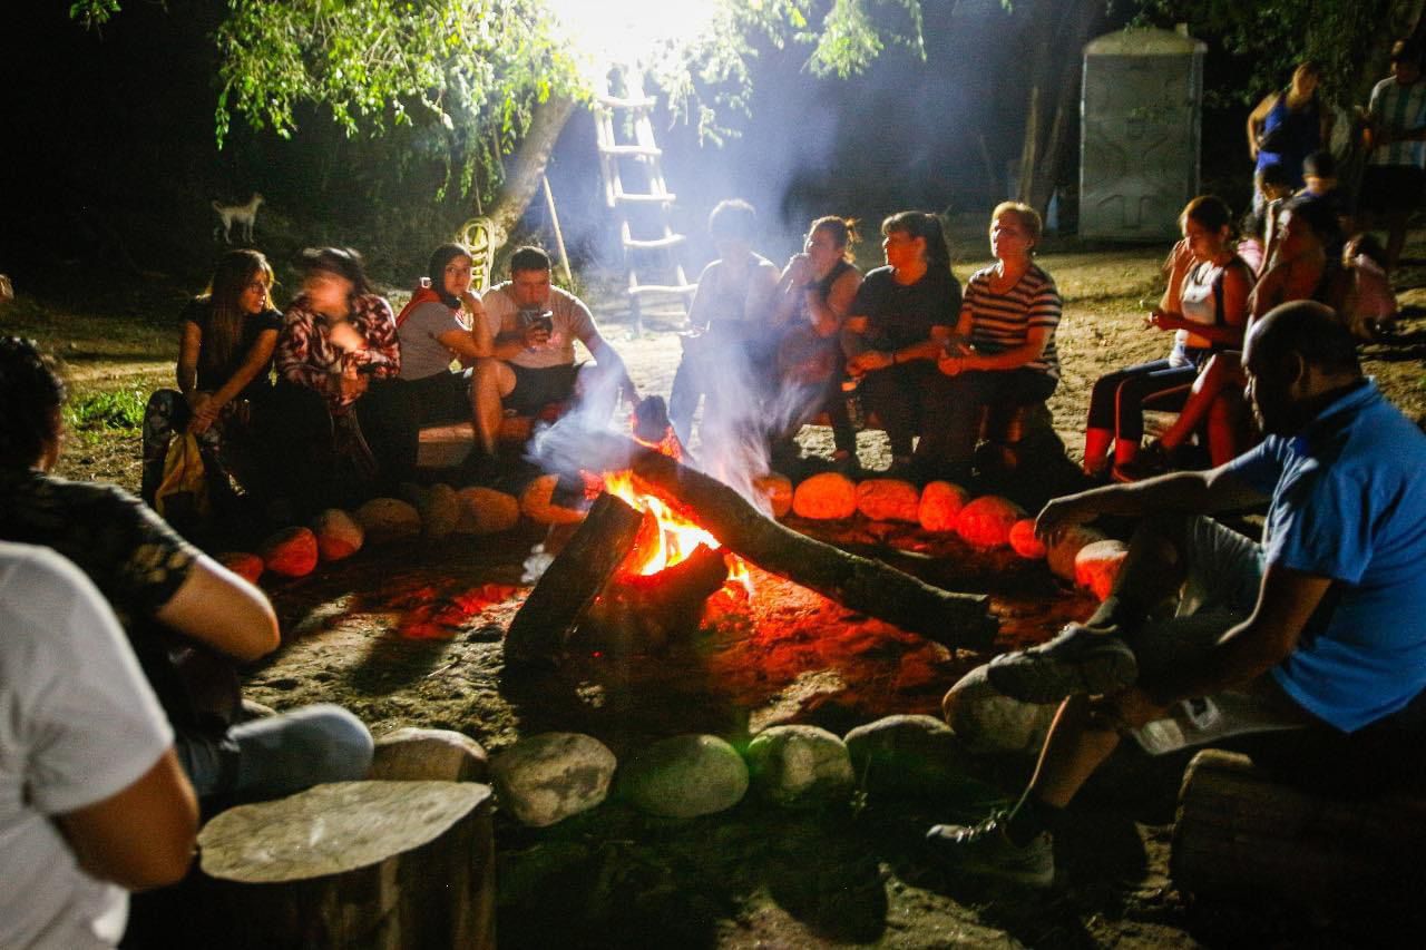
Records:
{"label": "short thick log leaning on the left side of the fire", "polygon": [[600,495],[505,632],[506,665],[553,663],[595,595],[633,546],[643,514]]}

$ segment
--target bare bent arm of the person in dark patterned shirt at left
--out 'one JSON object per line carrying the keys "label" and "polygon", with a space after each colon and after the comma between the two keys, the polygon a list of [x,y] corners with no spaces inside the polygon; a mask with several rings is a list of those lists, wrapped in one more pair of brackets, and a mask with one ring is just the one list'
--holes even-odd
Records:
{"label": "bare bent arm of the person in dark patterned shirt at left", "polygon": [[164,626],[240,660],[255,660],[281,643],[267,595],[207,555],[198,555],[154,616]]}

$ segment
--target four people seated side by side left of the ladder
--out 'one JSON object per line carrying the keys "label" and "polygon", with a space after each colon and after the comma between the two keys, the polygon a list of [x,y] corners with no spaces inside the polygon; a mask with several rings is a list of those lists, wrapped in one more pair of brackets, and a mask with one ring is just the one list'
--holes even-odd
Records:
{"label": "four people seated side by side left of the ladder", "polygon": [[[231,476],[301,516],[409,481],[422,425],[471,419],[493,456],[506,411],[536,414],[576,391],[637,399],[589,308],[550,285],[545,251],[515,251],[511,280],[483,297],[471,290],[472,265],[462,245],[436,248],[428,281],[396,317],[356,251],[309,248],[301,290],[279,314],[268,261],[230,251],[183,312],[178,389],[150,399],[144,499],[164,482],[175,435],[200,442],[217,475],[210,485]],[[576,339],[597,361],[589,374],[612,385],[578,385],[588,374]]]}

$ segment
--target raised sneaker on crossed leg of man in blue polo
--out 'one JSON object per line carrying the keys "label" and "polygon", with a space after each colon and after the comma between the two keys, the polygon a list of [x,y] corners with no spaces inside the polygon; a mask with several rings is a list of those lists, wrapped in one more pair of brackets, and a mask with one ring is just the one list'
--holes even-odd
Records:
{"label": "raised sneaker on crossed leg of man in blue polo", "polygon": [[1118,636],[1071,623],[1047,643],[997,656],[985,676],[1011,699],[1057,703],[1075,693],[1127,689],[1138,679],[1139,663]]}

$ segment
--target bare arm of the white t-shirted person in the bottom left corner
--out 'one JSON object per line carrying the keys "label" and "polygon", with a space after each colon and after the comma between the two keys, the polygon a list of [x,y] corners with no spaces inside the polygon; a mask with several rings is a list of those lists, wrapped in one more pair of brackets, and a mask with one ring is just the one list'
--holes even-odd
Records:
{"label": "bare arm of the white t-shirted person in the bottom left corner", "polygon": [[130,786],[56,820],[86,872],[127,890],[147,890],[174,884],[188,872],[198,800],[170,746]]}

